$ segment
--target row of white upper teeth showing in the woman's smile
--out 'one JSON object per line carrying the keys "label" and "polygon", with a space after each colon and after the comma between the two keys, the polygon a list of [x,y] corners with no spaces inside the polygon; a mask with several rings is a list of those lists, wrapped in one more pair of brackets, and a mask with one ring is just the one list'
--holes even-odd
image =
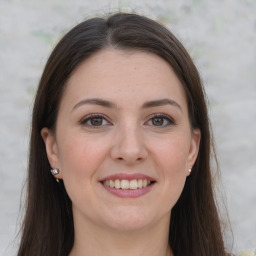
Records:
{"label": "row of white upper teeth showing in the woman's smile", "polygon": [[150,180],[139,179],[139,180],[104,180],[103,184],[105,186],[117,189],[138,189],[145,188],[151,184]]}

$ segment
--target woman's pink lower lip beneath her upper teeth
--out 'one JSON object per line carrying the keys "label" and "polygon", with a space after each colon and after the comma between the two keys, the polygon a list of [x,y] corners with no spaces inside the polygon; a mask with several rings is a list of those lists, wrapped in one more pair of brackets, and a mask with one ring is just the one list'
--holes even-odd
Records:
{"label": "woman's pink lower lip beneath her upper teeth", "polygon": [[[102,184],[102,183],[101,183]],[[122,197],[122,198],[136,198],[141,197],[145,194],[147,194],[152,187],[155,185],[155,183],[150,184],[149,186],[145,188],[138,188],[138,189],[117,189],[117,188],[111,188],[108,186],[105,186],[102,184],[103,188],[106,189],[111,194]]]}

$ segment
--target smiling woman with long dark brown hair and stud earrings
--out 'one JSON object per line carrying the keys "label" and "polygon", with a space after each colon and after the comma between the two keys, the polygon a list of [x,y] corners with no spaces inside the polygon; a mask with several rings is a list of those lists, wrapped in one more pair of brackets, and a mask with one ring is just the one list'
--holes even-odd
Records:
{"label": "smiling woman with long dark brown hair and stud earrings", "polygon": [[125,13],[79,24],[38,87],[18,255],[227,255],[210,154],[200,77],[171,32]]}

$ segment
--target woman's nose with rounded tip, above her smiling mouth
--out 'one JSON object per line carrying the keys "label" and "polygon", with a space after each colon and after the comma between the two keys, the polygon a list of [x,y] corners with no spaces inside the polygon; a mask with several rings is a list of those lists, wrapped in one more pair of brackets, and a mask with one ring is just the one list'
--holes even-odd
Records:
{"label": "woman's nose with rounded tip, above her smiling mouth", "polygon": [[128,165],[144,161],[148,157],[143,134],[137,127],[118,129],[111,148],[111,158]]}

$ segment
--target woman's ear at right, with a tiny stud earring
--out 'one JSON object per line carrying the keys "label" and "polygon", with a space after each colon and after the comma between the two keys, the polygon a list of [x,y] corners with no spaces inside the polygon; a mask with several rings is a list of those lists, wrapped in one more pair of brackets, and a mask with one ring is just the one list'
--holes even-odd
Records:
{"label": "woman's ear at right, with a tiny stud earring", "polygon": [[[189,155],[188,155],[188,169],[192,168],[200,147],[200,140],[201,140],[201,131],[199,129],[194,129],[192,131],[191,136],[191,143],[190,143],[190,149],[189,149]],[[189,173],[188,173],[189,174]]]}

